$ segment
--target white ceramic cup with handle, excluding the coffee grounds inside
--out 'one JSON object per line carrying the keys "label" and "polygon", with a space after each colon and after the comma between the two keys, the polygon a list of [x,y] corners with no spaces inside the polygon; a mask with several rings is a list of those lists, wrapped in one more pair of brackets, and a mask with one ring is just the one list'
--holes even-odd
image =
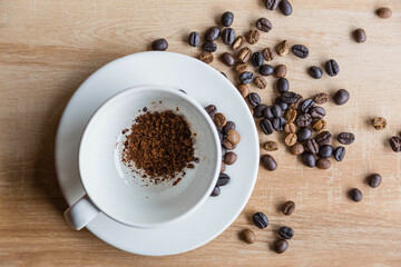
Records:
{"label": "white ceramic cup with handle, excluding the coffee grounds inside", "polygon": [[[137,177],[121,162],[124,129],[147,107],[177,110],[194,136],[199,162],[183,179],[158,185]],[[140,110],[140,111],[139,111]],[[150,228],[188,216],[211,195],[221,169],[221,144],[207,112],[184,92],[163,86],[126,89],[108,99],[89,120],[79,147],[79,172],[86,195],[69,207],[66,220],[77,230],[100,212],[128,226]],[[129,134],[129,132],[128,132]]]}

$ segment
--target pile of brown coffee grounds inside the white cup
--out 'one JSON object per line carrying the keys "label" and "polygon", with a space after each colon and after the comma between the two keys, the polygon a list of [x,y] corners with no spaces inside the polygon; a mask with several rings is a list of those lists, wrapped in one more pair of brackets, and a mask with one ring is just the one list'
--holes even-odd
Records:
{"label": "pile of brown coffee grounds inside the white cup", "polygon": [[144,178],[172,179],[185,167],[193,168],[194,160],[189,126],[172,110],[138,116],[124,142],[123,162],[134,164]]}

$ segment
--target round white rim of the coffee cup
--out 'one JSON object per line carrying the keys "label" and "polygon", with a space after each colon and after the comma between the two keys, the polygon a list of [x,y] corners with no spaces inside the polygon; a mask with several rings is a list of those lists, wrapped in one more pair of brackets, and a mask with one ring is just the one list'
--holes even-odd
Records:
{"label": "round white rim of the coffee cup", "polygon": [[[133,222],[123,218],[117,217],[116,215],[111,214],[110,210],[106,211],[104,210],[97,202],[96,202],[96,198],[94,198],[94,196],[91,196],[89,194],[89,191],[87,190],[87,185],[85,182],[85,179],[81,176],[81,145],[85,140],[85,138],[88,135],[88,129],[90,128],[90,126],[92,123],[95,123],[95,118],[97,118],[100,113],[100,110],[106,109],[111,100],[118,98],[118,97],[124,97],[125,95],[129,95],[133,91],[149,91],[149,90],[155,90],[155,91],[167,91],[169,93],[173,93],[177,97],[183,98],[186,102],[188,102],[192,107],[194,107],[196,109],[196,111],[198,111],[204,119],[206,120],[208,127],[212,129],[213,132],[213,139],[214,139],[214,145],[215,145],[215,149],[217,151],[217,157],[216,157],[216,165],[215,165],[215,170],[213,174],[213,179],[211,180],[211,184],[207,188],[207,190],[204,192],[203,197],[200,199],[197,200],[197,202],[189,208],[188,210],[186,210],[185,212],[183,212],[182,215],[174,217],[172,219],[167,219],[167,220],[163,220],[163,221],[158,221],[158,222],[150,222],[150,224],[141,224],[141,222]],[[218,179],[218,174],[219,174],[219,169],[221,169],[221,165],[222,165],[222,149],[221,147],[221,142],[219,142],[219,137],[217,135],[217,131],[214,130],[215,125],[212,120],[212,118],[209,117],[209,115],[206,112],[206,110],[193,98],[190,98],[189,96],[187,96],[185,92],[180,91],[180,89],[178,88],[174,88],[174,87],[168,87],[168,86],[163,86],[163,85],[138,85],[135,87],[129,87],[126,88],[117,93],[115,93],[114,96],[111,96],[110,98],[108,98],[105,102],[102,102],[97,109],[96,111],[91,115],[91,117],[89,118],[89,121],[87,122],[87,125],[85,126],[85,130],[81,135],[80,141],[79,141],[79,149],[78,149],[78,170],[79,170],[79,179],[82,184],[85,194],[89,197],[90,201],[100,210],[100,212],[102,212],[104,215],[108,216],[109,218],[119,221],[120,224],[124,224],[126,226],[131,226],[131,227],[138,227],[138,228],[156,228],[156,227],[162,227],[162,226],[166,226],[166,225],[170,225],[174,224],[180,219],[184,219],[185,217],[189,216],[190,214],[193,214],[197,208],[199,208],[205,201],[206,199],[209,197],[209,194],[212,192],[213,188],[215,187],[217,179]]]}

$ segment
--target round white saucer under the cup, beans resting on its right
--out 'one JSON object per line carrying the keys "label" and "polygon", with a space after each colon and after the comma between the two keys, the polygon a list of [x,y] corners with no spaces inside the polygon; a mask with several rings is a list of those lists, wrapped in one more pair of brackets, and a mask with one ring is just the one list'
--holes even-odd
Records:
{"label": "round white saucer under the cup, beans resting on its right", "polygon": [[85,195],[78,174],[78,147],[85,126],[96,109],[116,92],[138,85],[184,89],[203,107],[214,103],[236,123],[238,159],[226,168],[231,184],[189,217],[163,228],[121,225],[105,215],[87,228],[104,241],[139,255],[174,255],[197,248],[223,233],[239,215],[256,181],[258,138],[254,119],[236,88],[202,61],[172,52],[141,52],[117,59],[92,73],[74,93],[63,111],[56,140],[59,185],[69,205]]}

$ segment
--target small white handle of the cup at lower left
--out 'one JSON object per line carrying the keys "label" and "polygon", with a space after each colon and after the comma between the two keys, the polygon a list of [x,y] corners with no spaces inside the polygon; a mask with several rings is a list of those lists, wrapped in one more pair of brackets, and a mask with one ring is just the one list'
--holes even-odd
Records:
{"label": "small white handle of the cup at lower left", "polygon": [[85,195],[65,211],[65,218],[74,229],[80,230],[99,214],[100,210]]}

